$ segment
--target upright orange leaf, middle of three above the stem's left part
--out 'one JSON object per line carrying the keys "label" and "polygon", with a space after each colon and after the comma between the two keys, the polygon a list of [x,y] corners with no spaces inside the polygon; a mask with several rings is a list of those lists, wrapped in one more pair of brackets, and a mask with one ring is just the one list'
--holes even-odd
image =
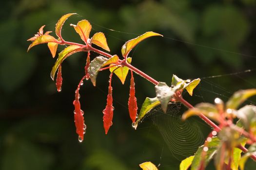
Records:
{"label": "upright orange leaf, middle of three above the stem's left part", "polygon": [[81,39],[85,43],[87,43],[87,39],[89,38],[89,34],[92,30],[92,26],[90,22],[84,19],[84,20],[80,20],[77,25],[73,25],[73,24],[70,24],[70,25],[75,28],[76,32],[80,35]]}

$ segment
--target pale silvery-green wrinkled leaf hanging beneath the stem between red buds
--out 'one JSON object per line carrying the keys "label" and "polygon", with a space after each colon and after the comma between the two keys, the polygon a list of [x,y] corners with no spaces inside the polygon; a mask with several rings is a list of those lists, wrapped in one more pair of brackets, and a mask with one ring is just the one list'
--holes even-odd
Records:
{"label": "pale silvery-green wrinkled leaf hanging beneath the stem between red buds", "polygon": [[107,61],[107,58],[103,56],[98,56],[98,57],[95,57],[89,65],[88,73],[90,75],[91,82],[93,83],[94,86],[96,86],[96,78],[98,75],[98,71],[103,65],[103,63],[106,61]]}

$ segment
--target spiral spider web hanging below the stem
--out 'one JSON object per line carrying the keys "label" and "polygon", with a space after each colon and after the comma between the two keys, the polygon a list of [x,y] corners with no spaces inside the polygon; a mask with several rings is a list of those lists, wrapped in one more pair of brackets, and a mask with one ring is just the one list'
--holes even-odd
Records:
{"label": "spiral spider web hanging below the stem", "polygon": [[164,113],[161,105],[158,105],[144,118],[153,121],[171,154],[179,160],[195,153],[204,141],[197,123],[191,119],[181,120],[183,112],[180,109],[180,103],[169,103],[167,112]]}

